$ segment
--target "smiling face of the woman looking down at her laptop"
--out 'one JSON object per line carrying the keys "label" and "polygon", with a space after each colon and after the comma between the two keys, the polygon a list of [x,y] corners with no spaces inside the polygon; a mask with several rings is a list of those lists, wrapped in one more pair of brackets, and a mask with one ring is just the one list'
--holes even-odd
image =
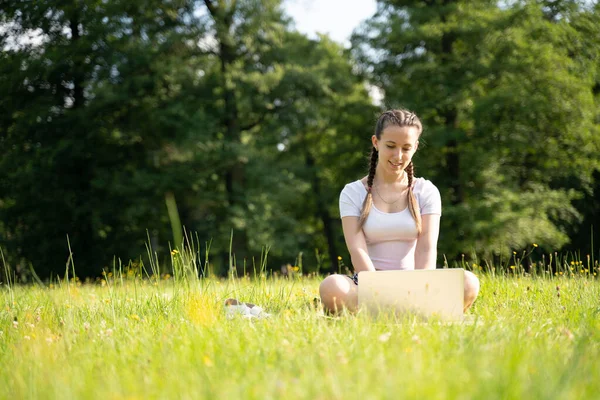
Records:
{"label": "smiling face of the woman looking down at her laptop", "polygon": [[378,168],[400,175],[419,147],[419,130],[414,126],[390,125],[379,139],[373,135],[371,140],[379,151]]}

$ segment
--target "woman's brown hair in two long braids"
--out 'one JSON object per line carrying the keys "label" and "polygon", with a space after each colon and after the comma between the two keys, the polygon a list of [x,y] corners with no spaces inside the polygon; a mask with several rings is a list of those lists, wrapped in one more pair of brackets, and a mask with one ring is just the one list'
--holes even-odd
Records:
{"label": "woman's brown hair in two long braids", "polygon": [[[377,119],[377,124],[375,125],[375,137],[377,140],[381,139],[381,133],[388,126],[412,126],[418,129],[419,136],[421,136],[421,132],[423,132],[423,125],[419,118],[415,115],[415,113],[410,112],[408,110],[388,110],[379,116]],[[359,229],[362,228],[367,217],[369,216],[369,212],[371,211],[371,206],[373,205],[373,180],[375,179],[375,170],[377,168],[377,162],[379,160],[379,152],[375,147],[371,148],[371,161],[369,163],[369,174],[367,175],[367,197],[363,202],[363,208],[360,213],[360,218],[358,220]],[[415,167],[413,162],[406,166],[404,169],[406,175],[408,177],[408,209],[410,210],[410,214],[415,220],[415,224],[417,225],[417,232],[421,233],[421,211],[419,210],[419,205],[417,204],[417,199],[413,192],[413,180]]]}

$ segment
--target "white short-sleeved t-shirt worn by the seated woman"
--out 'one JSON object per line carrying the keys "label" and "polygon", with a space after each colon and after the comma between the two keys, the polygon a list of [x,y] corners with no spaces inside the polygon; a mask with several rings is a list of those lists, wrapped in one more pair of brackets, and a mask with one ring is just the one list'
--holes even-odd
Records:
{"label": "white short-sleeved t-shirt worn by the seated woman", "polygon": [[[415,178],[413,192],[421,215],[442,215],[442,199],[433,183]],[[360,180],[347,184],[340,194],[340,216],[360,217],[365,197],[367,189]],[[373,204],[362,229],[376,270],[415,269],[418,234],[408,207],[400,212],[386,213]]]}

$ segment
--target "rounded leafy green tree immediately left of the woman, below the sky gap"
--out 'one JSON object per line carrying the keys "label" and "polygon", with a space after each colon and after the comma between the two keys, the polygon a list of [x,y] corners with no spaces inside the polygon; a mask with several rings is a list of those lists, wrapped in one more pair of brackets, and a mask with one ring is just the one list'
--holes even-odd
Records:
{"label": "rounded leafy green tree immediately left of the woman, below the sky gap", "polygon": [[[264,125],[253,147],[260,159],[253,187],[269,191],[272,207],[286,218],[267,219],[284,254],[326,249],[324,269],[337,271],[346,253],[339,223],[338,198],[345,183],[365,169],[376,107],[365,80],[355,74],[347,51],[327,37],[307,39],[288,33],[279,57],[283,76],[271,91],[280,112]],[[266,172],[277,165],[279,173]],[[361,171],[360,173],[363,173]],[[267,185],[261,182],[269,177]],[[270,189],[270,190],[269,190]],[[258,214],[260,215],[260,214]],[[254,224],[261,225],[258,220]],[[264,224],[264,222],[263,222]]]}

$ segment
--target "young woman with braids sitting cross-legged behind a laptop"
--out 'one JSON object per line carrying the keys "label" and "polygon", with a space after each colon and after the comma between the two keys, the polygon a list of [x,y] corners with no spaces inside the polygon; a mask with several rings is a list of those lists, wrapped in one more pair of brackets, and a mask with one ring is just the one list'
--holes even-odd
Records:
{"label": "young woman with braids sitting cross-legged behind a laptop", "polygon": [[[369,174],[347,184],[340,216],[356,274],[330,275],[319,292],[326,311],[358,306],[358,272],[435,269],[442,214],[440,192],[414,177],[412,157],[423,126],[407,110],[386,111],[371,141]],[[479,280],[465,271],[465,311],[479,293]]]}

